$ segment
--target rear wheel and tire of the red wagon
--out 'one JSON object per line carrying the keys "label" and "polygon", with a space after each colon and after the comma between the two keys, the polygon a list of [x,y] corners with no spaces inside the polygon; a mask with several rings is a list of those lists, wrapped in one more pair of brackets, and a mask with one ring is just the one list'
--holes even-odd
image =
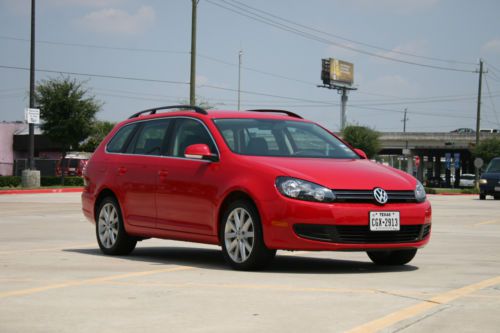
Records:
{"label": "rear wheel and tire of the red wagon", "polygon": [[135,238],[127,235],[120,205],[113,197],[106,197],[99,204],[95,230],[99,248],[105,254],[127,255],[137,244]]}

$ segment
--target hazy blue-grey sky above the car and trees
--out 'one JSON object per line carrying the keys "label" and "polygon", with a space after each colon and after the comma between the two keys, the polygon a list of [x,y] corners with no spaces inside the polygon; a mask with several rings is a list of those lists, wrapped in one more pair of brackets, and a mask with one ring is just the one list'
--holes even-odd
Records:
{"label": "hazy blue-grey sky above the car and trees", "polygon": [[[121,121],[189,101],[191,0],[37,0],[36,80],[83,81]],[[0,0],[0,121],[29,105],[30,0]],[[354,64],[347,122],[377,131],[500,128],[498,0],[199,0],[199,101],[296,112],[338,131],[322,58]]]}

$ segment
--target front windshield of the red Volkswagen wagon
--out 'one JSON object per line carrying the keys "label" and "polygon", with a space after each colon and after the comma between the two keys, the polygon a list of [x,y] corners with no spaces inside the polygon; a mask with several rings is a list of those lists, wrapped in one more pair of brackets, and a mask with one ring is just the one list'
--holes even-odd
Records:
{"label": "front windshield of the red Volkswagen wagon", "polygon": [[214,122],[229,148],[241,155],[359,158],[314,123],[276,119],[216,119]]}

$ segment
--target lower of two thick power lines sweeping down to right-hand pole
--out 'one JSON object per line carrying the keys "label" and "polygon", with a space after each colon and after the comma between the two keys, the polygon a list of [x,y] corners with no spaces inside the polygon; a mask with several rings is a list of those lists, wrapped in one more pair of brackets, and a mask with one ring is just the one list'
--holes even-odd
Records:
{"label": "lower of two thick power lines sweeping down to right-hand pole", "polygon": [[[222,0],[222,1],[224,1],[224,0]],[[327,44],[327,45],[336,45],[338,47],[341,47],[341,48],[344,48],[344,49],[348,49],[348,50],[351,50],[351,51],[354,51],[354,52],[362,53],[362,54],[365,54],[365,55],[369,55],[369,56],[372,56],[372,57],[377,57],[377,58],[381,58],[381,59],[385,59],[385,60],[395,61],[395,62],[404,63],[404,64],[408,64],[408,65],[415,65],[415,66],[420,66],[420,67],[426,67],[426,68],[433,68],[433,69],[447,70],[447,71],[455,71],[455,72],[475,73],[474,70],[466,70],[466,69],[459,69],[459,68],[454,68],[454,67],[444,67],[444,66],[423,64],[423,63],[418,63],[418,62],[414,62],[414,61],[408,61],[408,60],[402,60],[402,59],[392,58],[392,57],[389,57],[389,56],[385,56],[385,55],[373,53],[373,52],[370,52],[370,51],[361,50],[361,49],[358,49],[358,48],[355,48],[355,47],[351,47],[351,46],[348,46],[348,45],[344,45],[344,44],[332,41],[330,39],[323,38],[321,36],[317,36],[317,35],[305,32],[303,30],[300,30],[300,29],[297,29],[297,28],[294,28],[294,27],[290,27],[289,25],[285,25],[285,24],[276,22],[276,21],[274,21],[272,19],[269,19],[269,18],[266,18],[266,17],[264,17],[262,15],[249,12],[248,10],[244,10],[241,7],[238,7],[235,4],[227,3],[226,1],[224,1],[224,3],[232,6],[233,8],[221,5],[220,3],[217,3],[217,2],[212,1],[212,0],[206,0],[206,2],[208,2],[208,3],[210,3],[210,4],[214,5],[214,6],[223,8],[225,10],[231,11],[233,13],[236,13],[238,15],[247,17],[247,18],[249,18],[251,20],[254,20],[254,21],[257,21],[257,22],[261,22],[261,23],[264,23],[266,25],[270,25],[272,27],[275,27],[277,29],[284,30],[284,31],[287,31],[287,32],[299,35],[299,36],[304,37],[304,38],[309,39],[309,40],[314,40],[314,41],[317,41],[317,42],[320,42],[320,43],[323,43],[323,44]]]}

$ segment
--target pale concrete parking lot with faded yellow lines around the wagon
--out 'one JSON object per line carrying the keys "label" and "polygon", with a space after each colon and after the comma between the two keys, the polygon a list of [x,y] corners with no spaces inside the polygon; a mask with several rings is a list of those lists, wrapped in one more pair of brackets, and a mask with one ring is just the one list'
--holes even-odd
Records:
{"label": "pale concrete parking lot with faded yellow lines around the wagon", "polygon": [[166,240],[102,255],[80,194],[0,195],[0,332],[498,332],[500,202],[431,196],[410,265],[278,252],[263,272]]}

